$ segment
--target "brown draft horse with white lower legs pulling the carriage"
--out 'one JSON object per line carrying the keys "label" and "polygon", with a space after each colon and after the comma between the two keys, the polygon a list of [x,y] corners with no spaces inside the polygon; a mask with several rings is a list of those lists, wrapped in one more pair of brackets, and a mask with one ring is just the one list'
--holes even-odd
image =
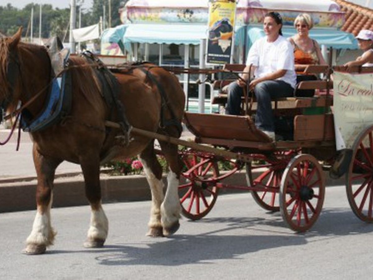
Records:
{"label": "brown draft horse with white lower legs pulling the carriage", "polygon": [[[47,90],[44,88],[51,81],[51,62],[46,47],[22,43],[20,39],[21,29],[12,37],[0,38],[0,105],[6,101],[7,109],[12,110],[20,101],[27,104],[26,110],[31,116],[37,116],[46,103]],[[135,155],[139,155],[144,165],[152,195],[147,234],[153,237],[173,234],[179,227],[180,218],[177,146],[160,141],[170,169],[164,195],[162,168],[154,153],[154,139],[131,134],[132,141],[128,146],[118,143],[116,136],[121,131],[107,128],[105,121],[119,121],[120,118],[116,108],[108,108],[103,100],[94,70],[87,67],[89,63],[82,57],[70,57],[69,63],[75,66],[68,70],[72,79],[72,108],[69,115],[58,124],[31,133],[32,155],[38,178],[37,214],[24,252],[44,253],[53,244],[56,234],[50,217],[53,180],[55,169],[62,161],[80,164],[84,175],[85,194],[91,206],[85,247],[103,246],[108,232],[108,221],[101,205],[100,165]],[[161,118],[171,119],[173,116],[179,124],[182,119],[185,96],[178,79],[159,67],[144,65],[143,69],[145,71],[135,68],[115,73],[119,82],[119,100],[129,124],[142,130],[179,137],[180,131],[176,125],[160,125]],[[156,81],[149,78],[147,71]],[[157,84],[161,85],[168,99],[168,106],[163,112]],[[38,96],[40,91],[43,93]],[[37,98],[28,103],[35,95]],[[116,112],[114,117],[113,111]]]}

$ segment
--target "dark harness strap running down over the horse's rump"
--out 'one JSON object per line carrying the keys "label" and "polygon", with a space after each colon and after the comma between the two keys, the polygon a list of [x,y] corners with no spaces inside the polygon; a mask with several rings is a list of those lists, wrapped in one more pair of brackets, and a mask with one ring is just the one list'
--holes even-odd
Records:
{"label": "dark harness strap running down over the horse's rump", "polygon": [[[160,115],[161,115],[161,118],[160,118],[160,127],[161,128],[165,128],[167,126],[175,125],[175,127],[177,128],[179,134],[181,135],[181,133],[183,131],[183,128],[181,126],[180,121],[178,121],[178,119],[176,118],[175,112],[173,112],[172,108],[170,107],[170,103],[169,103],[167,94],[164,91],[164,88],[161,86],[161,84],[159,83],[159,81],[154,77],[154,75],[151,74],[151,72],[149,71],[149,69],[144,69],[144,68],[139,68],[139,69],[142,72],[144,72],[147,77],[149,77],[149,79],[152,81],[152,83],[154,83],[154,84],[157,85],[158,91],[159,91],[159,93],[161,95],[162,102],[161,102],[161,111],[160,111]],[[167,107],[168,111],[170,112],[171,119],[165,119],[165,117],[164,117],[164,108],[165,107]]]}

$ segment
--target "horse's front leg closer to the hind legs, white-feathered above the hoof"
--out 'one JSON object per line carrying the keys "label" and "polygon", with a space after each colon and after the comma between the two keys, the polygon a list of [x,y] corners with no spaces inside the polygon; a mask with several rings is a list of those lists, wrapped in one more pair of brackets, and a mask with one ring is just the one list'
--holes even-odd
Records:
{"label": "horse's front leg closer to the hind legs, white-feathered above the hoof", "polygon": [[87,157],[81,159],[85,182],[85,195],[91,205],[90,227],[87,233],[85,248],[101,248],[106,240],[109,222],[101,205],[100,160]]}

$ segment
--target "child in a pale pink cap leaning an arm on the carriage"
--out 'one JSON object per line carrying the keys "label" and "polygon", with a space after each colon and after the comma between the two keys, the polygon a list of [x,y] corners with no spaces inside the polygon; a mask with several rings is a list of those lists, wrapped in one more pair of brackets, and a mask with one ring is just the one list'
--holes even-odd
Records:
{"label": "child in a pale pink cap leaning an arm on the carriage", "polygon": [[363,55],[354,61],[345,63],[344,66],[373,66],[373,31],[362,29],[356,36],[359,48],[364,51]]}

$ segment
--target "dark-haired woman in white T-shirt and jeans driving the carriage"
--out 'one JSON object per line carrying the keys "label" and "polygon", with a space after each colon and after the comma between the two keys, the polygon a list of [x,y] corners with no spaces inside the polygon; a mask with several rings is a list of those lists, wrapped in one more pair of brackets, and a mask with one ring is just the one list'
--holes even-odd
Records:
{"label": "dark-haired woman in white T-shirt and jeans driving the carriage", "polygon": [[293,47],[282,36],[282,18],[277,12],[269,12],[263,21],[265,37],[258,39],[250,48],[244,74],[241,79],[228,87],[226,113],[239,115],[242,87],[249,80],[248,72],[254,79],[249,90],[253,90],[257,100],[255,125],[267,136],[275,140],[275,124],[272,114],[272,98],[293,96],[296,83]]}

